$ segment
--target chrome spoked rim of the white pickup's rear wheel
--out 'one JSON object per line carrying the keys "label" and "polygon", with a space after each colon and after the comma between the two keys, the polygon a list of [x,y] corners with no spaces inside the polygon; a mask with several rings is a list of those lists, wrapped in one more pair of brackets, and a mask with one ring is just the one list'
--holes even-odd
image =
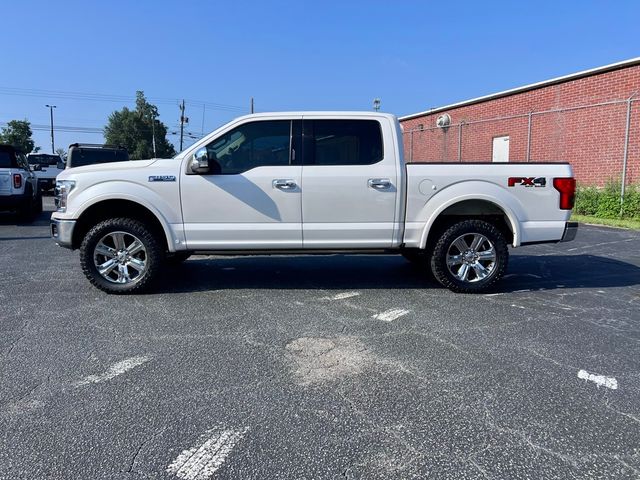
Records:
{"label": "chrome spoked rim of the white pickup's rear wheel", "polygon": [[461,282],[479,282],[496,268],[495,247],[479,233],[460,235],[447,250],[447,268]]}

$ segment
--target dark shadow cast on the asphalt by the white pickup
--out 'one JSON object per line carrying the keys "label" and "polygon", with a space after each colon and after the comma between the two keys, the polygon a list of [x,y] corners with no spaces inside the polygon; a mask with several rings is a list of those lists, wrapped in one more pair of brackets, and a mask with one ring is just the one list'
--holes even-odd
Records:
{"label": "dark shadow cast on the asphalt by the white pickup", "polygon": [[[640,268],[593,255],[512,256],[493,292],[640,284]],[[193,257],[170,268],[156,293],[230,289],[442,288],[426,268],[396,255]]]}

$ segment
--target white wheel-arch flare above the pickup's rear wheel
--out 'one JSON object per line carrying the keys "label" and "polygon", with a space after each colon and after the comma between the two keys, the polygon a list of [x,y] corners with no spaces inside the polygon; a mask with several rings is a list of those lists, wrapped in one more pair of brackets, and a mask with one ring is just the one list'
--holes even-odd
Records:
{"label": "white wheel-arch flare above the pickup's rear wheel", "polygon": [[438,216],[450,206],[465,200],[483,200],[498,206],[506,215],[511,226],[513,246],[520,246],[520,221],[525,218],[524,205],[522,205],[517,197],[494,183],[472,180],[459,182],[443,188],[430,197],[419,210],[417,218],[426,221],[420,237],[421,248],[426,247],[429,231]]}

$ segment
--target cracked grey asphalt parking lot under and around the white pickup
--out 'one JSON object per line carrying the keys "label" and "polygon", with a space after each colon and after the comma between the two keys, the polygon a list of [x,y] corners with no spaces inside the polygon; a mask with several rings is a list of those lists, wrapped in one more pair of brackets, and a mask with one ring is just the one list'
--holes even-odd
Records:
{"label": "cracked grey asphalt parking lot under and around the white pickup", "polygon": [[46,212],[0,245],[2,479],[640,478],[640,232],[513,250],[485,295],[339,255],[109,296]]}

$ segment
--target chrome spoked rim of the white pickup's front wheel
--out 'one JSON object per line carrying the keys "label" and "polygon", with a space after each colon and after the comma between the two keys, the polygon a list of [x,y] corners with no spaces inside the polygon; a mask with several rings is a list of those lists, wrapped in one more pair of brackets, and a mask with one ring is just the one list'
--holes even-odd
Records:
{"label": "chrome spoked rim of the white pickup's front wheel", "polygon": [[96,244],[93,263],[106,280],[132,284],[140,281],[147,272],[147,250],[135,235],[110,232]]}

